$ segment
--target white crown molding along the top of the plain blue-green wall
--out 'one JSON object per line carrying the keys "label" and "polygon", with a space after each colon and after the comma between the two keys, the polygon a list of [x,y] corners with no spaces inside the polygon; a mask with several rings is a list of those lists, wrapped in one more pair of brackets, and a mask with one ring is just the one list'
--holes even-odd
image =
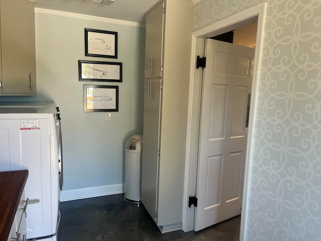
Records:
{"label": "white crown molding along the top of the plain blue-green wall", "polygon": [[126,25],[131,27],[138,27],[138,28],[145,28],[145,24],[117,20],[117,19],[107,19],[101,17],[95,17],[90,15],[83,15],[83,14],[75,14],[75,13],[68,13],[56,10],[49,10],[49,9],[39,9],[35,8],[35,13],[37,14],[47,14],[47,15],[54,15],[60,17],[67,17],[67,18],[74,18],[74,19],[82,19],[82,20],[89,20],[89,21],[96,21],[96,22],[103,22],[108,24],[119,24],[119,25]]}

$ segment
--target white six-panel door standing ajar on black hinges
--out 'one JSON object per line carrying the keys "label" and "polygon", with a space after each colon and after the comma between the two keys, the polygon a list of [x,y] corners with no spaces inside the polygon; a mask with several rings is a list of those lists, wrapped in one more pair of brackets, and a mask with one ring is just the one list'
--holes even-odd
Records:
{"label": "white six-panel door standing ajar on black hinges", "polygon": [[206,40],[196,231],[241,213],[254,49]]}

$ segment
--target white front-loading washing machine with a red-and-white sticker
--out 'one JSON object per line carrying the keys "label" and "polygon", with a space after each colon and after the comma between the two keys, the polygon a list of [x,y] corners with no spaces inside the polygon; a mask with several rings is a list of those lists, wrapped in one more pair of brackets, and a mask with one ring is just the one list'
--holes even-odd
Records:
{"label": "white front-loading washing machine with a red-and-white sticker", "polygon": [[0,102],[0,171],[29,170],[28,240],[56,241],[63,185],[59,107]]}

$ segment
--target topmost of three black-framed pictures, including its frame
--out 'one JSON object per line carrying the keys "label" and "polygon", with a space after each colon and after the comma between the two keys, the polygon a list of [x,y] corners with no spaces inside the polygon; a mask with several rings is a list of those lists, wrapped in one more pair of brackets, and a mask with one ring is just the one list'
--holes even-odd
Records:
{"label": "topmost of three black-framed pictures, including its frame", "polygon": [[117,32],[85,28],[85,56],[117,59]]}

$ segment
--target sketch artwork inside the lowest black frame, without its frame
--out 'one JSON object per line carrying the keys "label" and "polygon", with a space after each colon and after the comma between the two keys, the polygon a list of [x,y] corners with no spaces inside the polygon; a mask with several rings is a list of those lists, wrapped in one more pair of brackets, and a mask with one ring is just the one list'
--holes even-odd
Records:
{"label": "sketch artwork inside the lowest black frame, without its frame", "polygon": [[115,100],[113,88],[87,88],[87,109],[115,109]]}

